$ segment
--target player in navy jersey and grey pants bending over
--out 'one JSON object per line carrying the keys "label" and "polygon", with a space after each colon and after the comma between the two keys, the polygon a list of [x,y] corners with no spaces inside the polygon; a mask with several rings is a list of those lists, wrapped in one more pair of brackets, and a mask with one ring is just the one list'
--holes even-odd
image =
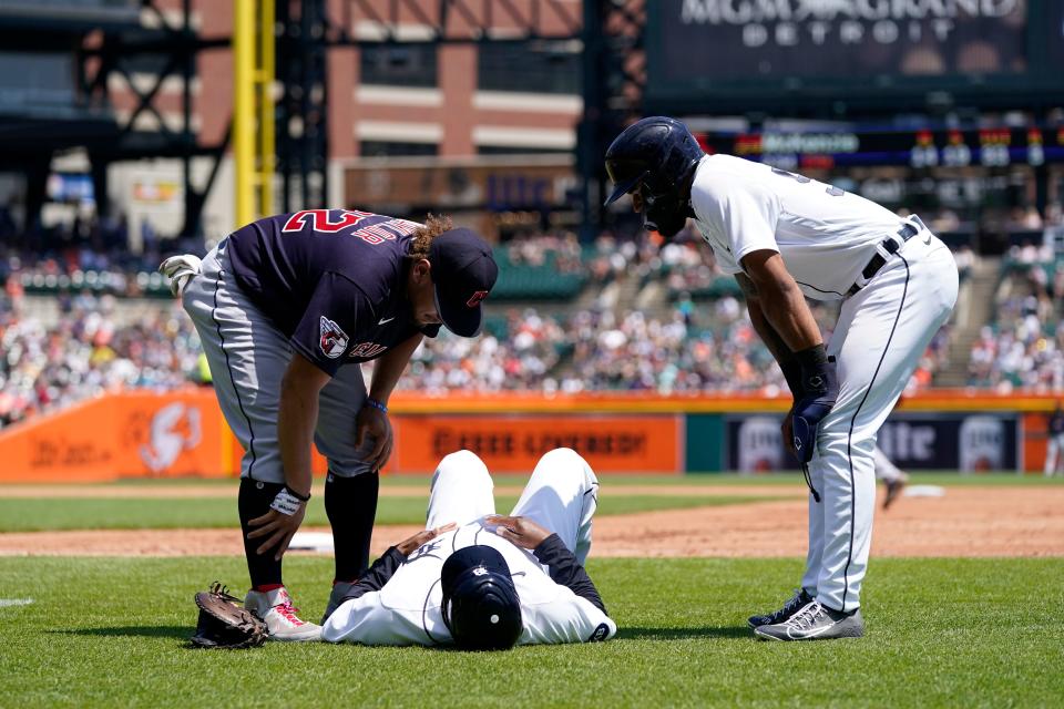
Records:
{"label": "player in navy jersey and grey pants bending over", "polygon": [[[328,459],[330,608],[366,571],[377,472],[391,454],[388,398],[423,336],[480,329],[498,269],[450,219],[424,225],[347,209],[249,224],[206,255],[160,270],[200,332],[218,403],[245,454],[238,511],[252,578],[246,607],[275,640],[316,640],[282,580],[310,499],[310,443]],[[360,362],[377,360],[367,395]],[[327,613],[328,614],[328,613]]]}

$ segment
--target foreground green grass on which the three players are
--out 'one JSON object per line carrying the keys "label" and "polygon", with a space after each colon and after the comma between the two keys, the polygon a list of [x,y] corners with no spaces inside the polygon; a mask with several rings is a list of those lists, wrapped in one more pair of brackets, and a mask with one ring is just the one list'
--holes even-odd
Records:
{"label": "foreground green grass on which the three players are", "polygon": [[[286,562],[308,616],[325,558]],[[873,559],[861,640],[745,628],[794,561],[600,559],[617,620],[598,645],[468,654],[267,644],[186,648],[194,592],[239,558],[0,558],[3,707],[1048,707],[1064,697],[1062,559]]]}

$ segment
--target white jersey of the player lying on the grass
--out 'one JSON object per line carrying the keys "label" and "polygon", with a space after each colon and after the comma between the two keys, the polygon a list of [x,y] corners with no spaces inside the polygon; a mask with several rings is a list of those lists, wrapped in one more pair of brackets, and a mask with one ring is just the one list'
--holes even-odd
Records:
{"label": "white jersey of the player lying on the grass", "polygon": [[362,645],[453,643],[440,607],[440,571],[448,556],[473,544],[499,549],[510,566],[524,624],[518,645],[606,640],[616,634],[617,626],[606,614],[551,580],[531,552],[498,536],[478,520],[413,552],[379,592],[340,605],[323,626],[324,639]]}

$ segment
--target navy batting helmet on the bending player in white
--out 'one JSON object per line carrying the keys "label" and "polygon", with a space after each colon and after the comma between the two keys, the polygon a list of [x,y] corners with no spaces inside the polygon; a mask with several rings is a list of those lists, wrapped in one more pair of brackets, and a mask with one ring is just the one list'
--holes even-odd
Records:
{"label": "navy batting helmet on the bending player in white", "polygon": [[614,183],[606,204],[640,189],[644,225],[673,236],[687,222],[690,183],[704,156],[698,141],[676,119],[656,115],[637,121],[606,151],[606,173]]}

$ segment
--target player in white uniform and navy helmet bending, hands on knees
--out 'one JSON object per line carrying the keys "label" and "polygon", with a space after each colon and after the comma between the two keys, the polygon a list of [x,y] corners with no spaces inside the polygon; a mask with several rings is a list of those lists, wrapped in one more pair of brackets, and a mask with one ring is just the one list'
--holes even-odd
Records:
{"label": "player in white uniform and navy helmet bending, hands on knees", "polygon": [[[695,219],[795,395],[784,438],[810,490],[806,573],[782,608],[750,626],[776,640],[862,635],[876,435],[953,309],[953,256],[919,217],[768,165],[707,156],[673,119],[625,129],[606,169],[615,183],[606,204],[631,193],[646,228],[669,237]],[[804,296],[842,300],[827,347]]]}

